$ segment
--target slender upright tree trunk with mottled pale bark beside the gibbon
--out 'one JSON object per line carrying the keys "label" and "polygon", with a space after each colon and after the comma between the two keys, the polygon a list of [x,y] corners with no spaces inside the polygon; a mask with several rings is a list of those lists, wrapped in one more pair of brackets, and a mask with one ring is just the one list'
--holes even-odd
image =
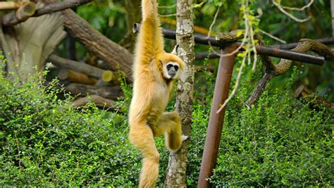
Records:
{"label": "slender upright tree trunk with mottled pale bark beside the gibbon", "polygon": [[[190,135],[192,123],[192,100],[194,91],[194,29],[192,23],[192,0],[178,0],[177,2],[176,40],[179,44],[178,56],[185,61],[185,73],[178,83],[176,110],[180,113],[183,134]],[[190,139],[183,142],[181,149],[170,154],[165,187],[186,187],[185,172],[187,168],[187,153]]]}

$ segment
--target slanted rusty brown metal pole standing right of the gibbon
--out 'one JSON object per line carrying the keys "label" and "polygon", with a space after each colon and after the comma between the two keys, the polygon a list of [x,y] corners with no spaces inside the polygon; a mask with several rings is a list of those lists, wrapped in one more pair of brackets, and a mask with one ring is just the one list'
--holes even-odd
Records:
{"label": "slanted rusty brown metal pole standing right of the gibbon", "polygon": [[[231,44],[221,50],[221,54],[230,54],[237,49],[237,45]],[[230,80],[233,72],[235,54],[231,56],[221,56],[219,61],[216,84],[214,88],[214,100],[212,101],[209,126],[206,132],[204,152],[199,172],[199,180],[197,187],[209,187],[209,182],[206,178],[211,177],[212,169],[216,165],[218,155],[219,142],[221,140],[221,131],[223,130],[223,121],[225,117],[225,108],[221,113],[216,111],[221,107],[224,101],[228,98],[228,90],[230,89]]]}

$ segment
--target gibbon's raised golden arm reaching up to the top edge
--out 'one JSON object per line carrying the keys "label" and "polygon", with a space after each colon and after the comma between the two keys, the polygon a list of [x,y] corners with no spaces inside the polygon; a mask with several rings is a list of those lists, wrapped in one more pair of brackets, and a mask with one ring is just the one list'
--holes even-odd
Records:
{"label": "gibbon's raised golden arm reaching up to the top edge", "polygon": [[[156,57],[163,52],[163,37],[156,0],[142,0],[142,25],[139,33],[137,55],[147,58]],[[146,59],[149,63],[151,59]]]}

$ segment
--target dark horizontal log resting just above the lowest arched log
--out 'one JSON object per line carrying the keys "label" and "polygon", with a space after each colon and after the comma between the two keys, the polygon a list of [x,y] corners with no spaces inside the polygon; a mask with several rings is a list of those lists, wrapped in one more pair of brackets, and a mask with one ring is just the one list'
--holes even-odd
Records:
{"label": "dark horizontal log resting just above the lowest arched log", "polygon": [[73,95],[87,96],[89,94],[95,94],[111,100],[117,100],[118,97],[123,96],[122,89],[120,89],[119,86],[97,87],[87,84],[72,83],[68,84],[65,89]]}

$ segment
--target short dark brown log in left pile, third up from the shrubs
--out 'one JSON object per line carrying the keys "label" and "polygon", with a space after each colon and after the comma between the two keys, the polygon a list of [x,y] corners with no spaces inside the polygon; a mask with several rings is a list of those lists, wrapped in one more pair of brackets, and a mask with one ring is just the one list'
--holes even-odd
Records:
{"label": "short dark brown log in left pile, third up from the shrubs", "polygon": [[77,82],[80,84],[96,84],[98,81],[95,78],[88,77],[85,74],[68,69],[59,70],[58,78],[59,80],[67,80],[69,82]]}

